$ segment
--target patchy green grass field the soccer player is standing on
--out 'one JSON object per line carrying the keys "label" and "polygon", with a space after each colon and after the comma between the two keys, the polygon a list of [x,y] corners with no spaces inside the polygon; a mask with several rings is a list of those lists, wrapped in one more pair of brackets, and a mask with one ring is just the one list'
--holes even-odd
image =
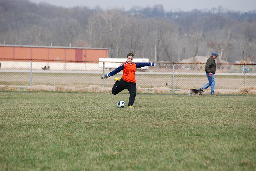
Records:
{"label": "patchy green grass field the soccer player is standing on", "polygon": [[0,92],[0,170],[255,170],[256,96]]}

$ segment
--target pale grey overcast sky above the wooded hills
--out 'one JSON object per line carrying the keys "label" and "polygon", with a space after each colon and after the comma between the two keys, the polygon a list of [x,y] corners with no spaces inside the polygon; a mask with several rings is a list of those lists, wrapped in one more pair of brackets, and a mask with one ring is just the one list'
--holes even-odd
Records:
{"label": "pale grey overcast sky above the wooded hills", "polygon": [[132,6],[153,7],[156,4],[162,4],[165,11],[190,11],[193,9],[211,9],[223,6],[229,10],[247,12],[256,10],[256,0],[30,0],[32,2],[46,2],[48,4],[74,7],[87,6],[94,8],[100,6],[102,9],[113,7],[124,7],[129,10]]}

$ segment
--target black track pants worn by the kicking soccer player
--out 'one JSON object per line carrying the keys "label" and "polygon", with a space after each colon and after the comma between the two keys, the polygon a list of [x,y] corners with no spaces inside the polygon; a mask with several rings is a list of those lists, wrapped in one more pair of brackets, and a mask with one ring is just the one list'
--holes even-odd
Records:
{"label": "black track pants worn by the kicking soccer player", "polygon": [[120,81],[116,81],[113,88],[112,94],[118,94],[124,89],[127,89],[130,93],[128,106],[133,105],[136,97],[136,83],[124,81],[122,78]]}

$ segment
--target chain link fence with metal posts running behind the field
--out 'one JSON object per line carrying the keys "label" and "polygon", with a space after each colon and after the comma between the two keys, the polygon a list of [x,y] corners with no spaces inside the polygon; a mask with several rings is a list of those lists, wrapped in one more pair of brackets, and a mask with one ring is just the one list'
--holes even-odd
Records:
{"label": "chain link fence with metal posts running behind the field", "polygon": [[[122,72],[101,80],[115,68],[106,67],[108,62],[76,62],[51,60],[5,60],[0,59],[0,86],[90,86],[112,87],[114,78],[121,78]],[[122,62],[115,63],[116,68]],[[136,70],[136,85],[140,88],[168,87],[178,89],[199,89],[208,82],[204,63],[159,62]],[[215,89],[239,89],[255,86],[256,64],[217,64]]]}

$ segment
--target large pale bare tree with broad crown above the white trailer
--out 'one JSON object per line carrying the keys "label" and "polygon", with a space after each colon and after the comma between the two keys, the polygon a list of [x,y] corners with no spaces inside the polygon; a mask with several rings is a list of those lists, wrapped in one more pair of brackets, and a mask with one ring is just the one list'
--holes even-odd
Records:
{"label": "large pale bare tree with broad crown above the white trailer", "polygon": [[126,38],[124,28],[128,21],[126,15],[118,8],[95,13],[89,19],[87,27],[90,42],[109,48],[110,57],[119,57],[123,51]]}

